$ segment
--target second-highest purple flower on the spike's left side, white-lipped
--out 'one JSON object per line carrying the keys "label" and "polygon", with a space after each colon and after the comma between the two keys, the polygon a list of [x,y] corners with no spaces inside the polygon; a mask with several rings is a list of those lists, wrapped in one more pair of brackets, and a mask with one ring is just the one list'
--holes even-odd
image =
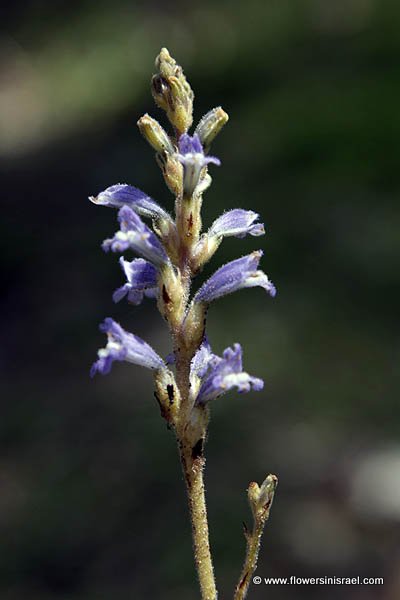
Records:
{"label": "second-highest purple flower on the spike's left side, white-lipped", "polygon": [[124,252],[131,248],[158,266],[168,261],[160,240],[129,206],[120,209],[118,220],[120,231],[117,231],[113,238],[104,240],[103,250]]}

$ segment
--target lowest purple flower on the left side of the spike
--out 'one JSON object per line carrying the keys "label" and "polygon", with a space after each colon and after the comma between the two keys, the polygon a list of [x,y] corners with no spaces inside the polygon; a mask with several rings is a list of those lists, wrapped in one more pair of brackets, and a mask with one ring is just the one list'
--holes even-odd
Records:
{"label": "lowest purple flower on the left side of the spike", "polygon": [[163,369],[165,363],[151,346],[140,337],[128,333],[121,325],[107,318],[100,325],[100,331],[108,336],[107,346],[98,351],[98,360],[93,363],[90,375],[97,372],[106,375],[110,372],[114,360],[122,360],[146,367],[147,369]]}

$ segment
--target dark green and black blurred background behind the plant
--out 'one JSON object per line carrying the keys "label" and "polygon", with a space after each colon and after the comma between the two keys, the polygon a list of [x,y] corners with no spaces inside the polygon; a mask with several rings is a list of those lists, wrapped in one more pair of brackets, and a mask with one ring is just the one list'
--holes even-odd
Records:
{"label": "dark green and black blurred background behind the plant", "polygon": [[[275,300],[209,312],[262,393],[212,407],[207,493],[221,598],[232,597],[251,480],[280,484],[257,573],[384,577],[384,586],[253,586],[250,598],[400,597],[400,5],[396,0],[3,4],[0,597],[198,598],[180,465],[151,375],[88,376],[113,316],[170,350],[152,301],[113,305],[100,243],[116,213],[87,196],[128,182],[172,209],[136,120],[161,46],[196,121],[231,120],[205,195],[261,213]],[[211,267],[207,273],[211,271]]]}

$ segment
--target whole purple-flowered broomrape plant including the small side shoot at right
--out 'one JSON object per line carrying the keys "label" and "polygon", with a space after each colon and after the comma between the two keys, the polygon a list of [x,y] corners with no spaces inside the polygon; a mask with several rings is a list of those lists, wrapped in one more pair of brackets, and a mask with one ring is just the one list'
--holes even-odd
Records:
{"label": "whole purple-flowered broomrape plant including the small side shoot at right", "polygon": [[[156,151],[165,183],[175,196],[175,218],[147,194],[127,184],[113,185],[90,200],[118,209],[119,229],[103,242],[103,249],[124,254],[133,251],[140,257],[119,258],[126,282],[115,290],[114,302],[126,298],[137,305],[145,297],[156,299],[169,327],[173,352],[163,360],[144,340],[107,318],[100,325],[107,344],[98,351],[91,375],[109,373],[114,361],[152,370],[161,416],[178,443],[201,595],[203,600],[215,600],[203,481],[210,402],[233,388],[239,393],[262,390],[264,382],[244,371],[240,344],[233,344],[222,356],[214,354],[206,335],[207,310],[214,300],[242,288],[259,286],[272,297],[276,290],[258,268],[262,257],[258,250],[218,269],[191,296],[192,279],[213,257],[224,237],[260,236],[264,226],[258,222],[257,213],[237,208],[225,212],[202,233],[202,197],[211,184],[208,168],[221,164],[208,151],[228,115],[221,107],[212,109],[190,135],[194,94],[182,68],[163,48],[156,69],[151,84],[153,97],[166,112],[173,132],[168,134],[147,114],[139,119],[138,127]],[[249,485],[254,523],[251,531],[245,528],[244,532],[247,550],[235,600],[247,595],[276,485],[274,475],[268,475],[261,486],[255,482]]]}

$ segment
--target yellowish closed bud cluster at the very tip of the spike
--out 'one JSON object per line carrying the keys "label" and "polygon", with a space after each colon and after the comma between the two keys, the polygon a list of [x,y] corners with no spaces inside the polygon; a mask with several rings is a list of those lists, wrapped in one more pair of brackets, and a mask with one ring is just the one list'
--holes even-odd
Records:
{"label": "yellowish closed bud cluster at the very tip of the spike", "polygon": [[156,59],[158,73],[151,81],[156,104],[165,110],[178,134],[185,133],[193,121],[194,94],[183,74],[182,67],[162,48]]}

